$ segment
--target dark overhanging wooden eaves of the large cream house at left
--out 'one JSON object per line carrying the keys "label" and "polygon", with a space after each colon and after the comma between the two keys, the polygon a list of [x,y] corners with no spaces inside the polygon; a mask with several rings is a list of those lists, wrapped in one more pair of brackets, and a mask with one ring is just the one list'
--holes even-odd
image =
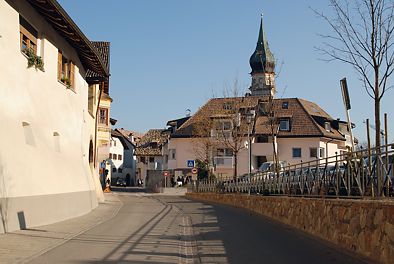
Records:
{"label": "dark overhanging wooden eaves of the large cream house at left", "polygon": [[96,47],[56,0],[27,0],[72,47],[78,51],[82,65],[107,78],[109,70]]}

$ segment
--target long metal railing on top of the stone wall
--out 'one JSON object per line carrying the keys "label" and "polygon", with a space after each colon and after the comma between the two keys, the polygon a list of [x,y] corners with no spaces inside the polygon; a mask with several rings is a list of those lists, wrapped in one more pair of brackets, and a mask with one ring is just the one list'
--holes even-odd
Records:
{"label": "long metal railing on top of the stone wall", "polygon": [[394,145],[303,162],[232,180],[199,181],[193,191],[336,197],[393,197]]}

